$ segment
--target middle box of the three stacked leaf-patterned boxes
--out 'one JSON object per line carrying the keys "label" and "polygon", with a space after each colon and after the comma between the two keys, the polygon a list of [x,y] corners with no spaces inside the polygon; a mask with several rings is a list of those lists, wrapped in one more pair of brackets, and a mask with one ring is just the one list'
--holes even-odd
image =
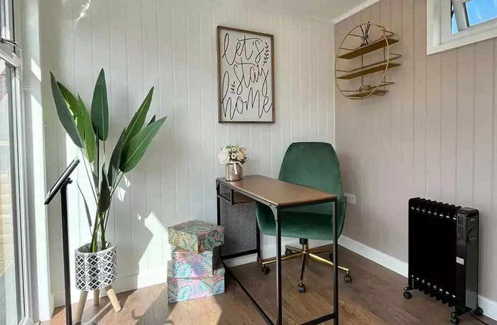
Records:
{"label": "middle box of the three stacked leaf-patterned boxes", "polygon": [[[220,248],[196,254],[179,247],[172,251],[171,276],[174,278],[213,276],[221,265]],[[224,274],[224,268],[223,274]]]}

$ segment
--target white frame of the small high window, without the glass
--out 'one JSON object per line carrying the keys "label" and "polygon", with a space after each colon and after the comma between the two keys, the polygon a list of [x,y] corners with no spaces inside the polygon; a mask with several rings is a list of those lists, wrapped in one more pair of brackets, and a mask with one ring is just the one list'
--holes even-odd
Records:
{"label": "white frame of the small high window, without the glass", "polygon": [[[492,19],[478,25],[467,27],[462,23],[466,20],[463,3],[467,0],[427,0],[426,10],[426,51],[434,54],[464,45],[497,37],[497,19]],[[459,32],[452,34],[451,4]]]}

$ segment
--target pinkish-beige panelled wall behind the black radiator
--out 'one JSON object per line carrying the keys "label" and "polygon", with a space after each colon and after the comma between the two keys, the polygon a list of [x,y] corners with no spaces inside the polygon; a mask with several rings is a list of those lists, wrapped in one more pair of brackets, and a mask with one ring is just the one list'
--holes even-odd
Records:
{"label": "pinkish-beige panelled wall behind the black radiator", "polygon": [[383,97],[336,93],[336,147],[349,205],[345,235],[408,259],[414,196],[481,212],[481,294],[497,300],[497,40],[426,55],[426,1],[381,0],[335,26],[335,45],[370,20],[397,33],[402,66]]}

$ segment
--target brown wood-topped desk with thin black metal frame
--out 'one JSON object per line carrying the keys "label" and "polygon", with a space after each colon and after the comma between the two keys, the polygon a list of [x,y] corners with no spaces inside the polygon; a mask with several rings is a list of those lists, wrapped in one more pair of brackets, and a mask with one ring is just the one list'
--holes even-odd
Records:
{"label": "brown wood-topped desk with thin black metal frame", "polygon": [[[222,193],[220,186],[229,189],[229,193]],[[227,181],[225,178],[216,180],[217,190],[217,214],[218,223],[220,224],[220,200],[227,200],[230,204],[243,203],[249,200],[259,202],[271,208],[276,223],[276,324],[282,325],[282,297],[281,297],[281,223],[278,218],[278,212],[304,205],[320,204],[334,202],[333,213],[333,238],[337,238],[336,215],[337,196],[334,194],[322,192],[305,186],[287,183],[278,179],[264,177],[260,175],[245,176],[237,182]],[[260,234],[257,229],[257,259],[260,259]],[[247,254],[253,253],[248,251]],[[239,254],[238,256],[240,256]],[[237,277],[225,265],[225,268],[240,285],[242,290],[248,295],[267,324],[273,324],[267,314],[262,310],[255,299],[250,295],[247,289],[237,279]],[[338,249],[337,241],[333,241],[333,313],[307,322],[304,325],[321,324],[329,320],[334,320],[338,324]]]}

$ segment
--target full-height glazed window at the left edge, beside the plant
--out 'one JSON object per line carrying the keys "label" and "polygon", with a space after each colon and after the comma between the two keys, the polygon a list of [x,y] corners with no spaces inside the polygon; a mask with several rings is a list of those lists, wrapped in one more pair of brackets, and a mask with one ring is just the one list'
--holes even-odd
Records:
{"label": "full-height glazed window at the left edge, beside the plant", "polygon": [[19,47],[14,0],[0,0],[0,324],[25,321],[26,254]]}

